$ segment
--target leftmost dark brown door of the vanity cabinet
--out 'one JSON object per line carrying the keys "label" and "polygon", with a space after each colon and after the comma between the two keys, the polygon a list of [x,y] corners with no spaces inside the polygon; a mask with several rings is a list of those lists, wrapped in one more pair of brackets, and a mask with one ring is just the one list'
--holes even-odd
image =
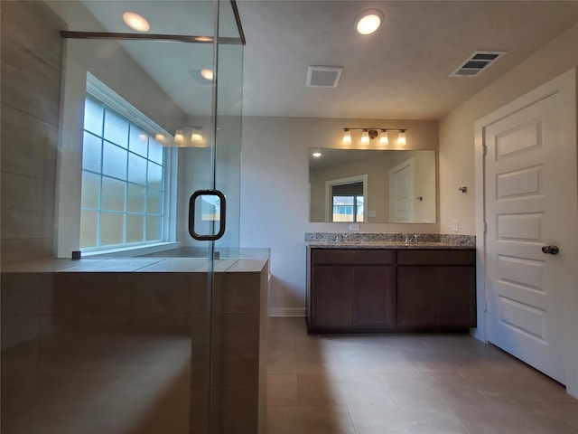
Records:
{"label": "leftmost dark brown door of the vanity cabinet", "polygon": [[312,267],[313,328],[345,329],[353,324],[353,267]]}

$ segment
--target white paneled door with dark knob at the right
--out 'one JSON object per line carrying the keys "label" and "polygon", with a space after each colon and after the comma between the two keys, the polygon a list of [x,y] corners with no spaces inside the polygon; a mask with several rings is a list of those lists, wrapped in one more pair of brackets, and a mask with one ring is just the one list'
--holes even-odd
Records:
{"label": "white paneled door with dark knob at the right", "polygon": [[555,91],[483,127],[488,340],[563,383],[578,265],[573,101]]}

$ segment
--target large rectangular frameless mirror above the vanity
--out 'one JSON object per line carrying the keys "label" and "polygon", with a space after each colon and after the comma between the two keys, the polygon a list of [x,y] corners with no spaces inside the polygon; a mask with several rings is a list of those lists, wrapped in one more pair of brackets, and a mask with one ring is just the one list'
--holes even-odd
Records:
{"label": "large rectangular frameless mirror above the vanity", "polygon": [[310,222],[435,222],[435,151],[309,149]]}

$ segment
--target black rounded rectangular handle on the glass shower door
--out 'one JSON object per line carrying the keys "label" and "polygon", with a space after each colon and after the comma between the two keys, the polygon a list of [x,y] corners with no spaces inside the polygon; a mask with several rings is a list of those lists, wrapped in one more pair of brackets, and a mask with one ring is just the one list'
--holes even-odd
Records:
{"label": "black rounded rectangular handle on the glass shower door", "polygon": [[[189,199],[189,233],[199,241],[217,241],[225,233],[227,199],[219,190],[197,190]],[[219,231],[216,225],[219,223]]]}

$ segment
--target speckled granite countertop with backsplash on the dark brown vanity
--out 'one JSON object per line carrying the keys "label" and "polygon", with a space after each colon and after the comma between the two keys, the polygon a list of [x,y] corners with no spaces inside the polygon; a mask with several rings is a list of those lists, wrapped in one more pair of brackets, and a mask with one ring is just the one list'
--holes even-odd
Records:
{"label": "speckled granite countertop with backsplash on the dark brown vanity", "polygon": [[[416,237],[416,239],[415,239]],[[410,240],[409,242],[406,242]],[[307,232],[305,244],[315,249],[461,249],[476,248],[471,235],[432,233]]]}

